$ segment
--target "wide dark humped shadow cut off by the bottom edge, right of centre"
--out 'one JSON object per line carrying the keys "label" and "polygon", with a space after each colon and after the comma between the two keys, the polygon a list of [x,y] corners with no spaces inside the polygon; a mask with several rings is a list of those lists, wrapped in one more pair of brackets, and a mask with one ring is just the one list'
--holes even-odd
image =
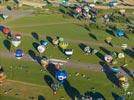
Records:
{"label": "wide dark humped shadow cut off by the bottom edge, right of centre", "polygon": [[106,100],[105,97],[99,92],[87,91],[85,96],[90,96],[93,100],[99,100],[99,98],[102,98],[101,100]]}

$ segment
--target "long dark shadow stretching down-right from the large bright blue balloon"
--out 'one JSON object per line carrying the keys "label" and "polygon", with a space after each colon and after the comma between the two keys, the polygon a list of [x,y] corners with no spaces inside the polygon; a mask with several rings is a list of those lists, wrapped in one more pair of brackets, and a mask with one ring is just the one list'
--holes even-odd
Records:
{"label": "long dark shadow stretching down-right from the large bright blue balloon", "polygon": [[76,88],[72,87],[67,80],[65,80],[65,82],[63,83],[63,87],[71,100],[74,100],[75,97],[81,96],[80,92]]}

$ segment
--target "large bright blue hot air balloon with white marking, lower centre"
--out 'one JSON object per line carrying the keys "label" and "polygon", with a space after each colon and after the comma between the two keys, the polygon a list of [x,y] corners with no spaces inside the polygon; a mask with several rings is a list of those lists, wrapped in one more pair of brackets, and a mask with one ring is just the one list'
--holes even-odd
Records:
{"label": "large bright blue hot air balloon with white marking, lower centre", "polygon": [[61,84],[64,83],[64,80],[67,78],[68,74],[64,70],[57,70],[55,72],[55,77],[60,81]]}

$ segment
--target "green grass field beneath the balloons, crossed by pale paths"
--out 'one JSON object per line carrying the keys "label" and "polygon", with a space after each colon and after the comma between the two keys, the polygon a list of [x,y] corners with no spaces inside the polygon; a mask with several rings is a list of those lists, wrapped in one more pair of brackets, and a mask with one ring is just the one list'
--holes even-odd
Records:
{"label": "green grass field beneath the balloons, crossed by pale paths", "polygon": [[[102,13],[104,12],[102,11]],[[133,19],[133,17],[129,17]],[[107,26],[102,25],[101,20],[99,20],[98,24],[100,24],[100,27],[98,29],[93,25],[89,26],[88,30],[85,28],[85,25],[88,25],[87,21],[78,21],[71,17],[64,18],[62,14],[41,14],[15,20],[9,19],[2,23],[10,27],[12,32],[23,33],[22,43],[18,48],[23,49],[25,54],[28,54],[29,50],[32,50],[36,55],[39,55],[37,50],[33,47],[33,43],[39,44],[40,40],[46,39],[46,36],[61,36],[69,42],[69,47],[74,49],[74,55],[71,57],[71,61],[80,60],[81,62],[91,64],[99,64],[101,59],[96,55],[85,55],[79,47],[80,43],[89,45],[92,48],[100,49],[100,53],[105,55],[110,51],[123,52],[120,48],[121,44],[127,43],[129,47],[133,47],[134,41],[134,34],[128,33],[128,38],[117,38],[108,34],[105,31],[105,27]],[[124,28],[127,25],[125,22],[113,22],[111,24],[116,24],[117,27],[120,28]],[[101,28],[101,26],[103,28]],[[32,32],[38,34],[39,40],[32,36]],[[96,36],[97,40],[89,34]],[[116,45],[115,47],[110,47],[104,42],[107,36],[113,38],[112,43]],[[9,52],[7,49],[8,47],[4,45],[4,40],[4,35],[0,33],[0,51]],[[14,52],[14,50],[15,48],[11,46],[11,52]],[[129,54],[126,54],[126,61],[129,64],[128,69],[134,69],[133,52],[131,52],[132,56]],[[57,47],[54,48],[51,43],[42,56],[66,59],[66,56]],[[118,66],[122,65],[122,63],[123,61],[121,61]],[[46,77],[49,77],[53,81],[57,80],[48,71],[42,71],[42,67],[38,63],[26,60],[9,59],[0,56],[0,65],[4,67],[8,79],[7,82],[5,82],[5,85],[1,88],[2,92],[0,92],[0,100],[9,100],[9,98],[10,100],[29,100],[31,97],[34,97],[36,100],[42,100],[39,98],[45,98],[46,100],[53,100],[53,98],[55,98],[55,100],[59,100],[61,96],[65,97],[64,100],[69,100],[74,97],[74,95],[83,95],[88,91],[93,91],[93,88],[95,88],[96,92],[102,94],[106,100],[113,100],[114,94],[122,95],[123,93],[123,90],[116,87],[104,72],[74,68],[74,66],[63,66],[63,69],[69,73],[67,84],[66,86],[62,86],[56,95],[53,95],[52,90],[48,86]],[[77,72],[80,73],[79,76],[75,76]],[[86,75],[86,77],[82,77],[82,75]],[[128,91],[133,91],[134,82],[131,78],[129,78],[129,83],[130,87]],[[21,89],[22,87],[24,89]],[[12,91],[5,94],[4,91],[9,90],[10,88],[12,88]],[[126,98],[128,100],[134,99],[134,97]]]}

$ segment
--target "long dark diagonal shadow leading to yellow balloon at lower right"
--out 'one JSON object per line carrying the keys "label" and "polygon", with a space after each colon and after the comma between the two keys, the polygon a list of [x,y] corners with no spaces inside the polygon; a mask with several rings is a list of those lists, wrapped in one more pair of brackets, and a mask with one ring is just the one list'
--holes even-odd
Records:
{"label": "long dark diagonal shadow leading to yellow balloon at lower right", "polygon": [[100,65],[103,67],[103,70],[107,76],[107,78],[117,87],[120,87],[119,80],[116,75],[112,72],[111,68],[105,62],[99,62]]}

